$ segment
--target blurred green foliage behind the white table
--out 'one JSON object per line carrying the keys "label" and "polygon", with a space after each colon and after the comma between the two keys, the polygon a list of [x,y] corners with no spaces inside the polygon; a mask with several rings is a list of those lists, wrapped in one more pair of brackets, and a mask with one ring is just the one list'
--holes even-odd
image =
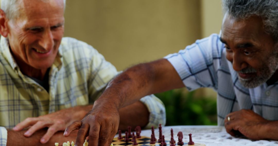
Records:
{"label": "blurred green foliage behind the white table", "polygon": [[217,125],[216,99],[196,97],[195,92],[170,90],[157,93],[166,108],[166,126]]}

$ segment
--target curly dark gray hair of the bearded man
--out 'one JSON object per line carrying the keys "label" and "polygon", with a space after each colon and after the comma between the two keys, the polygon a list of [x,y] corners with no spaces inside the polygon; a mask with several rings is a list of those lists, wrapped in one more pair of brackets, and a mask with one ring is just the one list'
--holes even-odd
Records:
{"label": "curly dark gray hair of the bearded man", "polygon": [[278,40],[278,1],[277,0],[222,0],[223,10],[235,19],[259,16],[264,30]]}

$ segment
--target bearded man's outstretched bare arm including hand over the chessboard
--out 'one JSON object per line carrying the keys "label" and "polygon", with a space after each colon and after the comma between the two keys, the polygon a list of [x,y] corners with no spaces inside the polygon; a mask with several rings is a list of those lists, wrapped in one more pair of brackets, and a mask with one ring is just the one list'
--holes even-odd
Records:
{"label": "bearded man's outstretched bare arm including hand over the chessboard", "polygon": [[110,145],[119,125],[119,109],[153,93],[184,87],[166,59],[133,66],[113,79],[82,121],[67,127],[64,135],[80,129],[76,144],[89,136],[89,145]]}

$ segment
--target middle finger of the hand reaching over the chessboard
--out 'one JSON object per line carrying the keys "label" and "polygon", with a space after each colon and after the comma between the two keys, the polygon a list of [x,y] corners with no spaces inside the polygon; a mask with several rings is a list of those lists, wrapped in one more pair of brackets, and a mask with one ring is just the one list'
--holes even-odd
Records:
{"label": "middle finger of the hand reaching over the chessboard", "polygon": [[99,134],[100,134],[100,124],[98,122],[95,122],[95,125],[90,125],[89,146],[98,145]]}

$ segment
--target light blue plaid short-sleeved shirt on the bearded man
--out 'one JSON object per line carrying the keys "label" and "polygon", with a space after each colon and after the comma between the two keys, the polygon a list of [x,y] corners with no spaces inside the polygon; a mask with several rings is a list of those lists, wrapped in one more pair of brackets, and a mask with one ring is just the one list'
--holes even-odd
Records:
{"label": "light blue plaid short-sleeved shirt on the bearded man", "polygon": [[212,34],[197,40],[165,58],[188,90],[210,87],[217,91],[218,125],[224,125],[227,114],[240,109],[252,109],[265,119],[278,120],[278,82],[245,88],[232,63],[226,59],[226,49],[219,36]]}

